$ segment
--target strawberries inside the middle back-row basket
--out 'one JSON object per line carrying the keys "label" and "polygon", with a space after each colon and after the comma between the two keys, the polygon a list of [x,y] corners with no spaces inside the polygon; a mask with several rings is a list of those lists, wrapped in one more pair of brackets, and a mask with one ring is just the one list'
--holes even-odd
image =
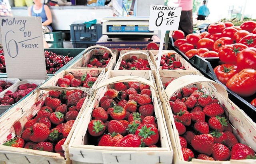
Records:
{"label": "strawberries inside the middle back-row basket", "polygon": [[147,59],[138,59],[133,55],[126,61],[121,61],[119,70],[150,70],[150,66]]}

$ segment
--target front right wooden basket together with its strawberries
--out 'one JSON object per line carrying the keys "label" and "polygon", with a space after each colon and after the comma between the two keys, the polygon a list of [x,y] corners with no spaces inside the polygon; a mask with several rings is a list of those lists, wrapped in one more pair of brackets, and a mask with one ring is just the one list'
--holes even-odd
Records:
{"label": "front right wooden basket together with its strawberries", "polygon": [[156,84],[164,94],[161,102],[174,162],[255,163],[256,124],[228,99],[222,85],[200,75],[174,80],[169,75],[166,82],[156,74]]}

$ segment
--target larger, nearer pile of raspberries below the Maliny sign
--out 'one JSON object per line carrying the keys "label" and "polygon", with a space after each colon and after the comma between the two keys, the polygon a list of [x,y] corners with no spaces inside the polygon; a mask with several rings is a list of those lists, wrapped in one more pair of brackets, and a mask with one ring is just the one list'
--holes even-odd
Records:
{"label": "larger, nearer pile of raspberries below the Maliny sign", "polygon": [[8,90],[4,94],[4,97],[0,98],[0,106],[12,105],[20,99],[24,98],[27,94],[29,94],[32,90],[37,87],[36,84],[21,84],[18,86],[18,89],[12,93],[12,91]]}

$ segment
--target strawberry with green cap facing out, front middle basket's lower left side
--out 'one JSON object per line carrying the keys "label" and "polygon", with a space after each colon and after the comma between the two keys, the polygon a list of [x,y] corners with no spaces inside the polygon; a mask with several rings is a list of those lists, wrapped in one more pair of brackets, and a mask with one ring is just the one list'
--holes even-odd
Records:
{"label": "strawberry with green cap facing out, front middle basket's lower left side", "polygon": [[[122,124],[122,123],[120,123],[120,124]],[[104,125],[103,121],[101,121],[100,119],[94,119],[94,120],[90,121],[90,123],[88,125],[88,132],[90,133],[90,135],[92,135],[94,137],[102,135],[104,133],[105,129],[106,129],[106,126]],[[108,128],[108,130],[109,130],[109,128]]]}

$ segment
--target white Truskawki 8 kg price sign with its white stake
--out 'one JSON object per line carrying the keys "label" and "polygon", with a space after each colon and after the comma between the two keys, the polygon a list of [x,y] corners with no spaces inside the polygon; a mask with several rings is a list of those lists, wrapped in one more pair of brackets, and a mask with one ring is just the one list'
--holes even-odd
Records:
{"label": "white Truskawki 8 kg price sign with its white stake", "polygon": [[177,30],[180,23],[181,7],[150,5],[149,30],[160,30],[160,46],[157,59],[157,70],[160,67],[164,36],[166,31]]}

